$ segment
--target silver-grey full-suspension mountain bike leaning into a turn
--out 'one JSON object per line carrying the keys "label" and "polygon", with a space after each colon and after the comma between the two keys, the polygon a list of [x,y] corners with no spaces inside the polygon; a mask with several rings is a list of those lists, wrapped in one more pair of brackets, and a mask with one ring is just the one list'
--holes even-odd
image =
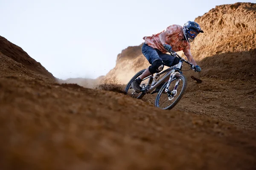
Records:
{"label": "silver-grey full-suspension mountain bike leaning into a turn", "polygon": [[[139,71],[125,87],[126,94],[132,96],[133,98],[142,99],[145,94],[154,94],[157,86],[161,85],[166,79],[163,86],[158,91],[158,94],[155,99],[155,106],[161,109],[172,109],[177,105],[183,96],[188,81],[186,77],[182,73],[183,62],[187,63],[190,69],[195,71],[195,67],[186,59],[180,57],[175,51],[169,51],[170,54],[174,57],[178,57],[180,62],[160,73],[152,74],[146,78],[144,78],[140,84],[141,91],[137,93],[132,87],[131,83],[137,79],[146,69]],[[189,69],[189,70],[190,70]],[[188,70],[187,70],[188,71]]]}

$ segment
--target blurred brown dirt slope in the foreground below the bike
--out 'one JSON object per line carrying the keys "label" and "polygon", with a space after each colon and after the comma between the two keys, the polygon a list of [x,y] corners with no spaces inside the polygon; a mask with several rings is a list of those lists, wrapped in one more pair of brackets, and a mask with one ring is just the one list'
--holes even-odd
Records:
{"label": "blurred brown dirt slope in the foreground below the bike", "polygon": [[123,94],[0,77],[0,168],[253,169],[256,134]]}

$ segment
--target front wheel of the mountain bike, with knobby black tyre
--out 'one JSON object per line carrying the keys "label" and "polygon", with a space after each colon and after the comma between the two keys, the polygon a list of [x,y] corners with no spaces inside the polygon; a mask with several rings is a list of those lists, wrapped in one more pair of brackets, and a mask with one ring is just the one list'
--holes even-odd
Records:
{"label": "front wheel of the mountain bike, with knobby black tyre", "polygon": [[[167,83],[160,89],[155,100],[155,106],[164,110],[172,109],[177,105],[186,90],[188,80],[182,74],[176,75],[170,83],[169,91],[165,93]],[[176,90],[175,85],[178,85]]]}

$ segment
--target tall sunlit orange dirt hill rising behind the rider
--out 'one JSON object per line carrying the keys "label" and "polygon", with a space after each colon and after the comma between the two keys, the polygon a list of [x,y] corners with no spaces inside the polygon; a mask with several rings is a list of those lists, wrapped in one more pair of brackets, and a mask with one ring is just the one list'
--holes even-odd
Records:
{"label": "tall sunlit orange dirt hill rising behind the rider", "polygon": [[[215,68],[211,72],[223,71],[226,74],[241,74],[242,77],[250,75],[255,78],[255,18],[255,3],[235,3],[216,6],[195,19],[204,34],[199,34],[192,42],[191,51],[197,61],[205,59],[202,61],[204,64],[199,63],[203,68],[202,74],[207,74],[210,68]],[[141,46],[123,50],[117,57],[116,67],[106,77],[116,77],[125,84],[135,73],[148,67],[148,61],[141,53]],[[244,53],[246,55],[243,55]],[[212,59],[206,59],[212,56]],[[209,60],[211,62],[206,63]]]}

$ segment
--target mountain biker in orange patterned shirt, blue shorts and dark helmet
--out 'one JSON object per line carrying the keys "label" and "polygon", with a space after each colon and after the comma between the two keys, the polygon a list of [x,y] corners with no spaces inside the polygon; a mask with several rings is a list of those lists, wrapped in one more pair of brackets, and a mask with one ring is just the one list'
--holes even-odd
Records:
{"label": "mountain biker in orange patterned shirt, blue shorts and dark helmet", "polygon": [[[145,43],[142,46],[142,54],[151,64],[137,79],[132,82],[132,88],[138,93],[141,91],[140,83],[145,77],[151,74],[159,73],[164,65],[171,67],[179,63],[180,59],[166,54],[168,51],[183,51],[188,61],[193,64],[195,71],[200,72],[201,68],[196,64],[191,52],[190,42],[192,42],[199,33],[204,33],[198,23],[188,21],[184,26],[172,25],[166,30],[153,34],[150,37],[143,37]],[[159,85],[155,92],[158,92],[165,82]]]}

